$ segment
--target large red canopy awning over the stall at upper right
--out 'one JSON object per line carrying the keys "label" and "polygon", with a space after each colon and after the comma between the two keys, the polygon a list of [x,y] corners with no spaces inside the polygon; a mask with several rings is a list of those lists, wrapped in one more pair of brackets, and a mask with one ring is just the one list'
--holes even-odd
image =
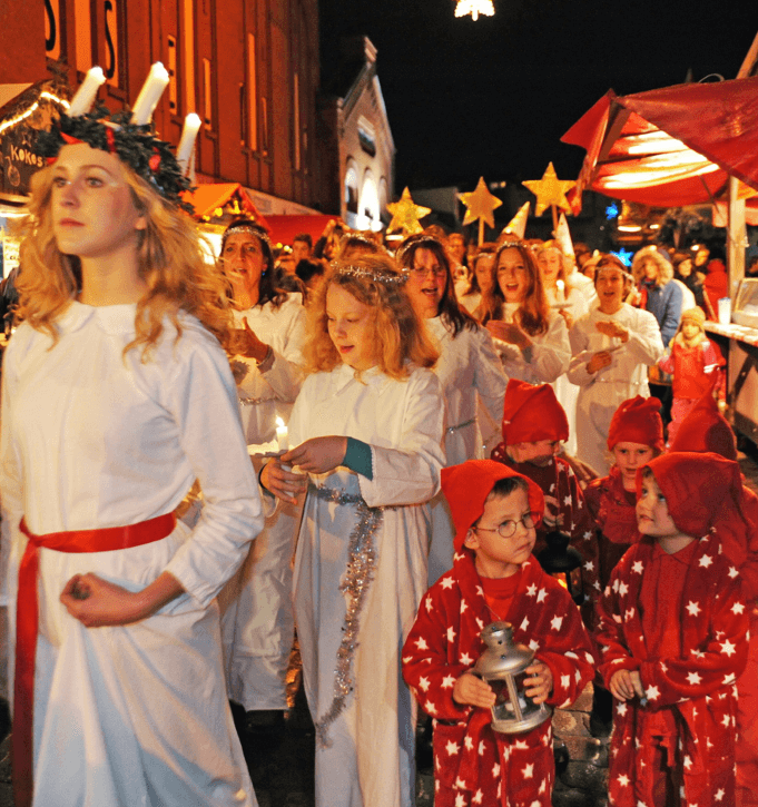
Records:
{"label": "large red canopy awning over the stall at upper right", "polygon": [[749,196],[758,193],[758,77],[624,97],[609,90],[561,139],[587,149],[569,194],[574,214],[584,189],[681,207],[723,198],[731,175]]}

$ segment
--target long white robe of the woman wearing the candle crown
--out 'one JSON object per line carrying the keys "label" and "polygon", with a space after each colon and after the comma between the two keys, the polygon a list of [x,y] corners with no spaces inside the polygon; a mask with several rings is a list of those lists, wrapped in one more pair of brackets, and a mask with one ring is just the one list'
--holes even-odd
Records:
{"label": "long white robe of the woman wearing the candle crown", "polygon": [[[196,478],[206,500],[191,532],[180,522],[141,547],[39,551],[33,804],[252,807],[215,602],[263,525],[234,381],[216,339],[188,316],[178,343],[166,323],[149,362],[139,350],[124,357],[135,312],[72,303],[58,345],[23,324],[4,355],[11,602],[21,515],[36,534],[138,523],[171,512]],[[186,593],[134,624],[88,629],[59,601],[75,573],[139,591],[164,571]]]}

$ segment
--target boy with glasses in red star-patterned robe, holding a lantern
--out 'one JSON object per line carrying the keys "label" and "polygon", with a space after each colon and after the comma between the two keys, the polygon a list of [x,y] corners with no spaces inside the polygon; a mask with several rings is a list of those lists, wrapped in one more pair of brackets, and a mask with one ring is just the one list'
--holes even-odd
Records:
{"label": "boy with glasses in red star-patterned robe, holding a lantern", "polygon": [[571,597],[531,554],[544,501],[530,480],[490,460],[442,470],[455,524],[453,569],[422,600],[403,648],[403,677],[434,718],[435,807],[550,807],[555,764],[545,720],[495,732],[495,696],[472,672],[481,631],[513,626],[535,651],[525,693],[568,706],[593,673],[590,638]]}

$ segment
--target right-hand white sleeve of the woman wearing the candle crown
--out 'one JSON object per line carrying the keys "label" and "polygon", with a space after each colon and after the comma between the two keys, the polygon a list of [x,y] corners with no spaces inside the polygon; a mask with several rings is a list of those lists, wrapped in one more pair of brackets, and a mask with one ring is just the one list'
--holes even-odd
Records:
{"label": "right-hand white sleeve of the woman wearing the candle crown", "polygon": [[234,574],[263,528],[258,486],[242,432],[234,380],[218,350],[194,350],[171,368],[165,406],[203,489],[203,514],[169,562],[207,606]]}

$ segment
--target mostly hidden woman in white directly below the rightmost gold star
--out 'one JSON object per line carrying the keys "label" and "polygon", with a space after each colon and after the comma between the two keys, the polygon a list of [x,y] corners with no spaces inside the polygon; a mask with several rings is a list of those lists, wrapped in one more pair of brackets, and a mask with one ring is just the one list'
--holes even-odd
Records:
{"label": "mostly hidden woman in white directly below the rightmost gold star", "polygon": [[[565,319],[565,326],[571,332],[572,325],[587,314],[589,305],[587,296],[577,288],[567,276],[568,260],[563,250],[555,240],[549,240],[536,247],[536,265],[542,276],[542,286],[548,297],[551,311],[557,312]],[[579,387],[572,384],[565,375],[560,375],[552,384],[565,416],[569,421],[569,439],[565,441],[565,451],[574,456],[577,454],[577,396]]]}

